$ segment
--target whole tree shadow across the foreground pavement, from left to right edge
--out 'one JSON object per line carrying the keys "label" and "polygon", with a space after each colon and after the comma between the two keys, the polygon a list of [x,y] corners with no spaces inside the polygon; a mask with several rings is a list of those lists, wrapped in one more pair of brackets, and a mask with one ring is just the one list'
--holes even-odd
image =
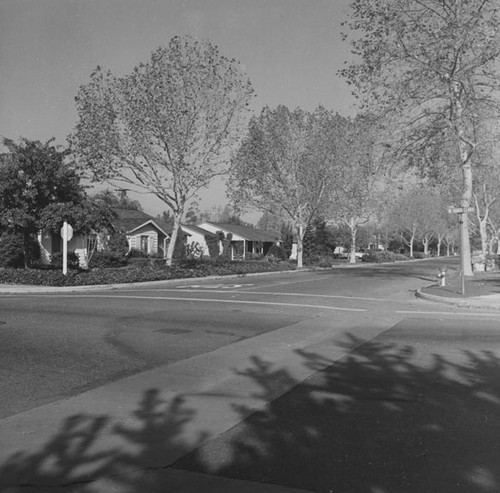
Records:
{"label": "whole tree shadow across the foreground pavement, from left to right edge", "polygon": [[[162,491],[168,467],[325,493],[500,491],[498,356],[426,347],[351,336],[350,354],[335,363],[301,351],[317,370],[301,383],[254,357],[241,374],[269,406],[251,413],[235,405],[251,415],[213,440],[201,433],[194,446],[183,432],[196,411],[150,389],[131,421],[72,416],[40,450],[11,456],[0,465],[0,491],[92,493],[92,480],[104,477],[120,493]],[[126,447],[93,451],[110,430]],[[173,451],[182,458],[171,465]]]}

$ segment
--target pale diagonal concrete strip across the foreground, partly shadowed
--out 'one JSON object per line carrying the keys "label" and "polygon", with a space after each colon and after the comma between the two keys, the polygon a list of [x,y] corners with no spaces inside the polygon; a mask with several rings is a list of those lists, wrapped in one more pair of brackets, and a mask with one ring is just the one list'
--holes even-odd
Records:
{"label": "pale diagonal concrete strip across the foreground, partly shadowed", "polygon": [[307,320],[1,420],[0,491],[298,492],[172,466],[345,356],[347,332],[366,341],[394,323],[336,317],[341,330]]}

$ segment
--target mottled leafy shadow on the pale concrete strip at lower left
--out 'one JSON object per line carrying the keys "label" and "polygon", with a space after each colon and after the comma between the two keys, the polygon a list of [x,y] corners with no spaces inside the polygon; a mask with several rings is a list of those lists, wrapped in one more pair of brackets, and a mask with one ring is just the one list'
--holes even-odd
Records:
{"label": "mottled leafy shadow on the pale concrete strip at lower left", "polygon": [[[106,416],[71,416],[40,450],[16,453],[0,465],[0,492],[91,493],[103,479],[112,491],[152,491],[155,470],[205,439],[200,435],[189,447],[184,443],[184,428],[195,414],[182,396],[165,402],[157,389],[150,389],[126,424]],[[123,446],[99,446],[105,433]]]}

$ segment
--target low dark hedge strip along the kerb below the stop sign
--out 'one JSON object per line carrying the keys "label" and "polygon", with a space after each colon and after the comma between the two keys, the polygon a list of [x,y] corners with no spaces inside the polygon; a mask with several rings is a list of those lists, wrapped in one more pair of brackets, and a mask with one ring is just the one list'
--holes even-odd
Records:
{"label": "low dark hedge strip along the kerb below the stop sign", "polygon": [[61,271],[41,269],[0,269],[0,284],[37,286],[88,286],[97,284],[123,284],[131,282],[189,279],[193,277],[244,275],[257,272],[294,270],[288,262],[191,262],[172,267],[145,266],[90,271]]}

